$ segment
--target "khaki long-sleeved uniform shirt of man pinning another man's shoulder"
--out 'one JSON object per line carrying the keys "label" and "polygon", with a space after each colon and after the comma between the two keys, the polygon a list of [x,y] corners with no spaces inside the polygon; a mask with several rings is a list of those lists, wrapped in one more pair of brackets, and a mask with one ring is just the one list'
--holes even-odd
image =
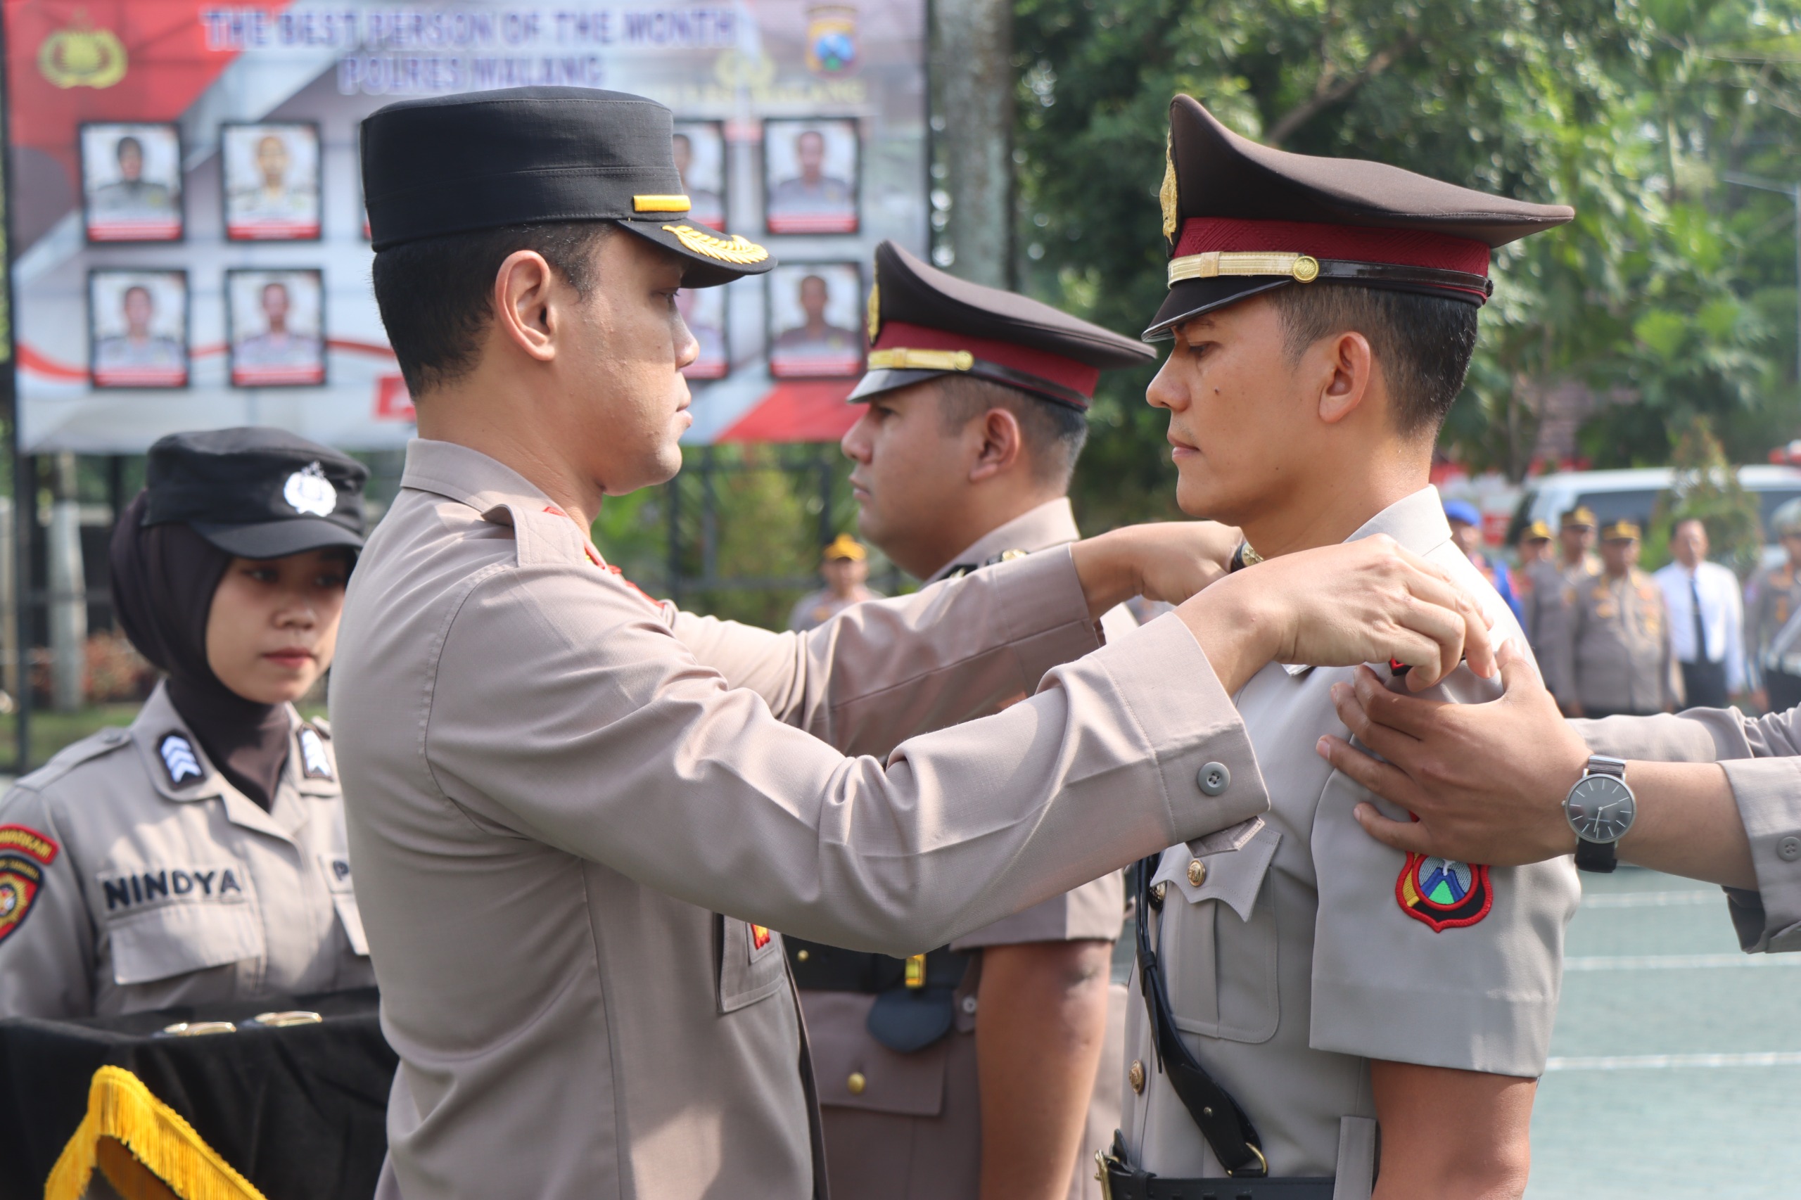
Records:
{"label": "khaki long-sleeved uniform shirt of man pinning another man's shoulder", "polygon": [[773,928],[915,953],[1266,807],[1180,620],[1054,668],[1095,647],[1068,551],[810,634],[695,618],[414,441],[331,677],[402,1059],[382,1195],[812,1193]]}

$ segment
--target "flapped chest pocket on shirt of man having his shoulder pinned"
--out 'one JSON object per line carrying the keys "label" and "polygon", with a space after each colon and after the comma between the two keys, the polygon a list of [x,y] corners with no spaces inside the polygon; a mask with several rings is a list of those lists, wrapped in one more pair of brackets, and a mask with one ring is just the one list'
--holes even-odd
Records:
{"label": "flapped chest pocket on shirt of man having his shoulder pinned", "polygon": [[1281,841],[1264,825],[1239,849],[1163,852],[1153,883],[1167,885],[1160,942],[1178,1029],[1250,1043],[1275,1036],[1275,888],[1264,881]]}

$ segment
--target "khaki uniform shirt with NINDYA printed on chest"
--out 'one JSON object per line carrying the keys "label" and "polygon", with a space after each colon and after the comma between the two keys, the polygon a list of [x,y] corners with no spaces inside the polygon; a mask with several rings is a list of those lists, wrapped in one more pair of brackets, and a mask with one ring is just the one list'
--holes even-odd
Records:
{"label": "khaki uniform shirt with NINDYA printed on chest", "polygon": [[0,1016],[115,1016],[367,987],[324,723],[292,708],[265,813],[162,685],[0,800]]}

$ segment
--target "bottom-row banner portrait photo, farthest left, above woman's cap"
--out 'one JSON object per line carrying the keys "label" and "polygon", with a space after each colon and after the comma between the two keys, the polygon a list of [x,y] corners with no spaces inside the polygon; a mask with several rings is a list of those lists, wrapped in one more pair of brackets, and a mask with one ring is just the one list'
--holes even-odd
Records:
{"label": "bottom-row banner portrait photo, farthest left, above woman's cap", "polygon": [[187,386],[187,272],[90,270],[95,387]]}

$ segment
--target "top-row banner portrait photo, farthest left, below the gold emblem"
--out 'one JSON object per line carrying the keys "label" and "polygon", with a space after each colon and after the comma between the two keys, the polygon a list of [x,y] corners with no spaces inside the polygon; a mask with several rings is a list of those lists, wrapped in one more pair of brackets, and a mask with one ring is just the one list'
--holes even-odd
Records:
{"label": "top-row banner portrait photo, farthest left, below the gold emblem", "polygon": [[175,124],[81,126],[88,241],[182,240],[182,135]]}

